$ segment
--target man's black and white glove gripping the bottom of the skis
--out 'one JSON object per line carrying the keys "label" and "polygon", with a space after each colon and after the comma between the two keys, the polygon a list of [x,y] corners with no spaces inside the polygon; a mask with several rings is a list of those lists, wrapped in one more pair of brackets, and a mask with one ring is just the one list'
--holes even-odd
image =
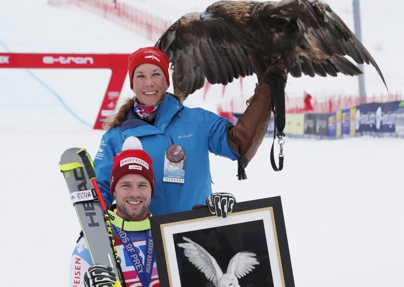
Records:
{"label": "man's black and white glove gripping the bottom of the skis", "polygon": [[112,287],[117,274],[107,265],[94,264],[84,273],[85,287]]}

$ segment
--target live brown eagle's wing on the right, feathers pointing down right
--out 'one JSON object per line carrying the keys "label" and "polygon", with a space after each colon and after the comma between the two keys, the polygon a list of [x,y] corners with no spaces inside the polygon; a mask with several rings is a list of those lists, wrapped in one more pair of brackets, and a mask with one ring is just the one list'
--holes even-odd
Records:
{"label": "live brown eagle's wing on the right, feathers pointing down right", "polygon": [[386,85],[379,66],[368,50],[327,4],[318,0],[283,0],[266,7],[263,13],[297,21],[301,41],[296,46],[296,61],[289,71],[292,76],[299,77],[302,72],[312,77],[315,74],[362,74],[354,63],[344,57],[349,56],[359,64],[372,64]]}

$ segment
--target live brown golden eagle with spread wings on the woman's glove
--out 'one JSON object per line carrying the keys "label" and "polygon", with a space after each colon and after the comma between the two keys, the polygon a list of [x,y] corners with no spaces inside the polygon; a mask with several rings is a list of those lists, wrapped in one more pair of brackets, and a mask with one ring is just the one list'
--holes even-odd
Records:
{"label": "live brown golden eagle with spread wings on the woman's glove", "polygon": [[[267,68],[281,76],[355,76],[355,62],[373,57],[331,8],[318,0],[218,1],[202,13],[182,16],[156,46],[170,59],[174,92],[186,98],[205,78],[223,85]],[[386,85],[387,87],[387,85]]]}

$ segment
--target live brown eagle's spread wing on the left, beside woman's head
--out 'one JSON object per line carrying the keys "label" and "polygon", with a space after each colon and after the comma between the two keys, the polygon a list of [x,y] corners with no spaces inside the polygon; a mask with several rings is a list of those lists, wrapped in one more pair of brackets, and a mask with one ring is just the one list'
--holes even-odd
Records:
{"label": "live brown eagle's spread wing on the left, beside woman's head", "polygon": [[169,58],[174,93],[184,99],[207,79],[226,85],[239,76],[254,74],[245,47],[222,19],[200,21],[200,13],[188,13],[172,24],[156,43]]}

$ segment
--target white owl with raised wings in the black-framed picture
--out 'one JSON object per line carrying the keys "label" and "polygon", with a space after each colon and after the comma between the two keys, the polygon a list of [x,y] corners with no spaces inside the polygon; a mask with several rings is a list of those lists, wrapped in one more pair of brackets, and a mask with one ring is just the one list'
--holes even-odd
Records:
{"label": "white owl with raised wings in the black-framed picture", "polygon": [[213,258],[203,247],[187,237],[182,237],[187,243],[179,243],[184,249],[184,255],[198,270],[211,280],[215,287],[240,287],[238,279],[255,269],[254,265],[260,264],[256,254],[252,252],[239,252],[233,256],[223,274],[216,259]]}

